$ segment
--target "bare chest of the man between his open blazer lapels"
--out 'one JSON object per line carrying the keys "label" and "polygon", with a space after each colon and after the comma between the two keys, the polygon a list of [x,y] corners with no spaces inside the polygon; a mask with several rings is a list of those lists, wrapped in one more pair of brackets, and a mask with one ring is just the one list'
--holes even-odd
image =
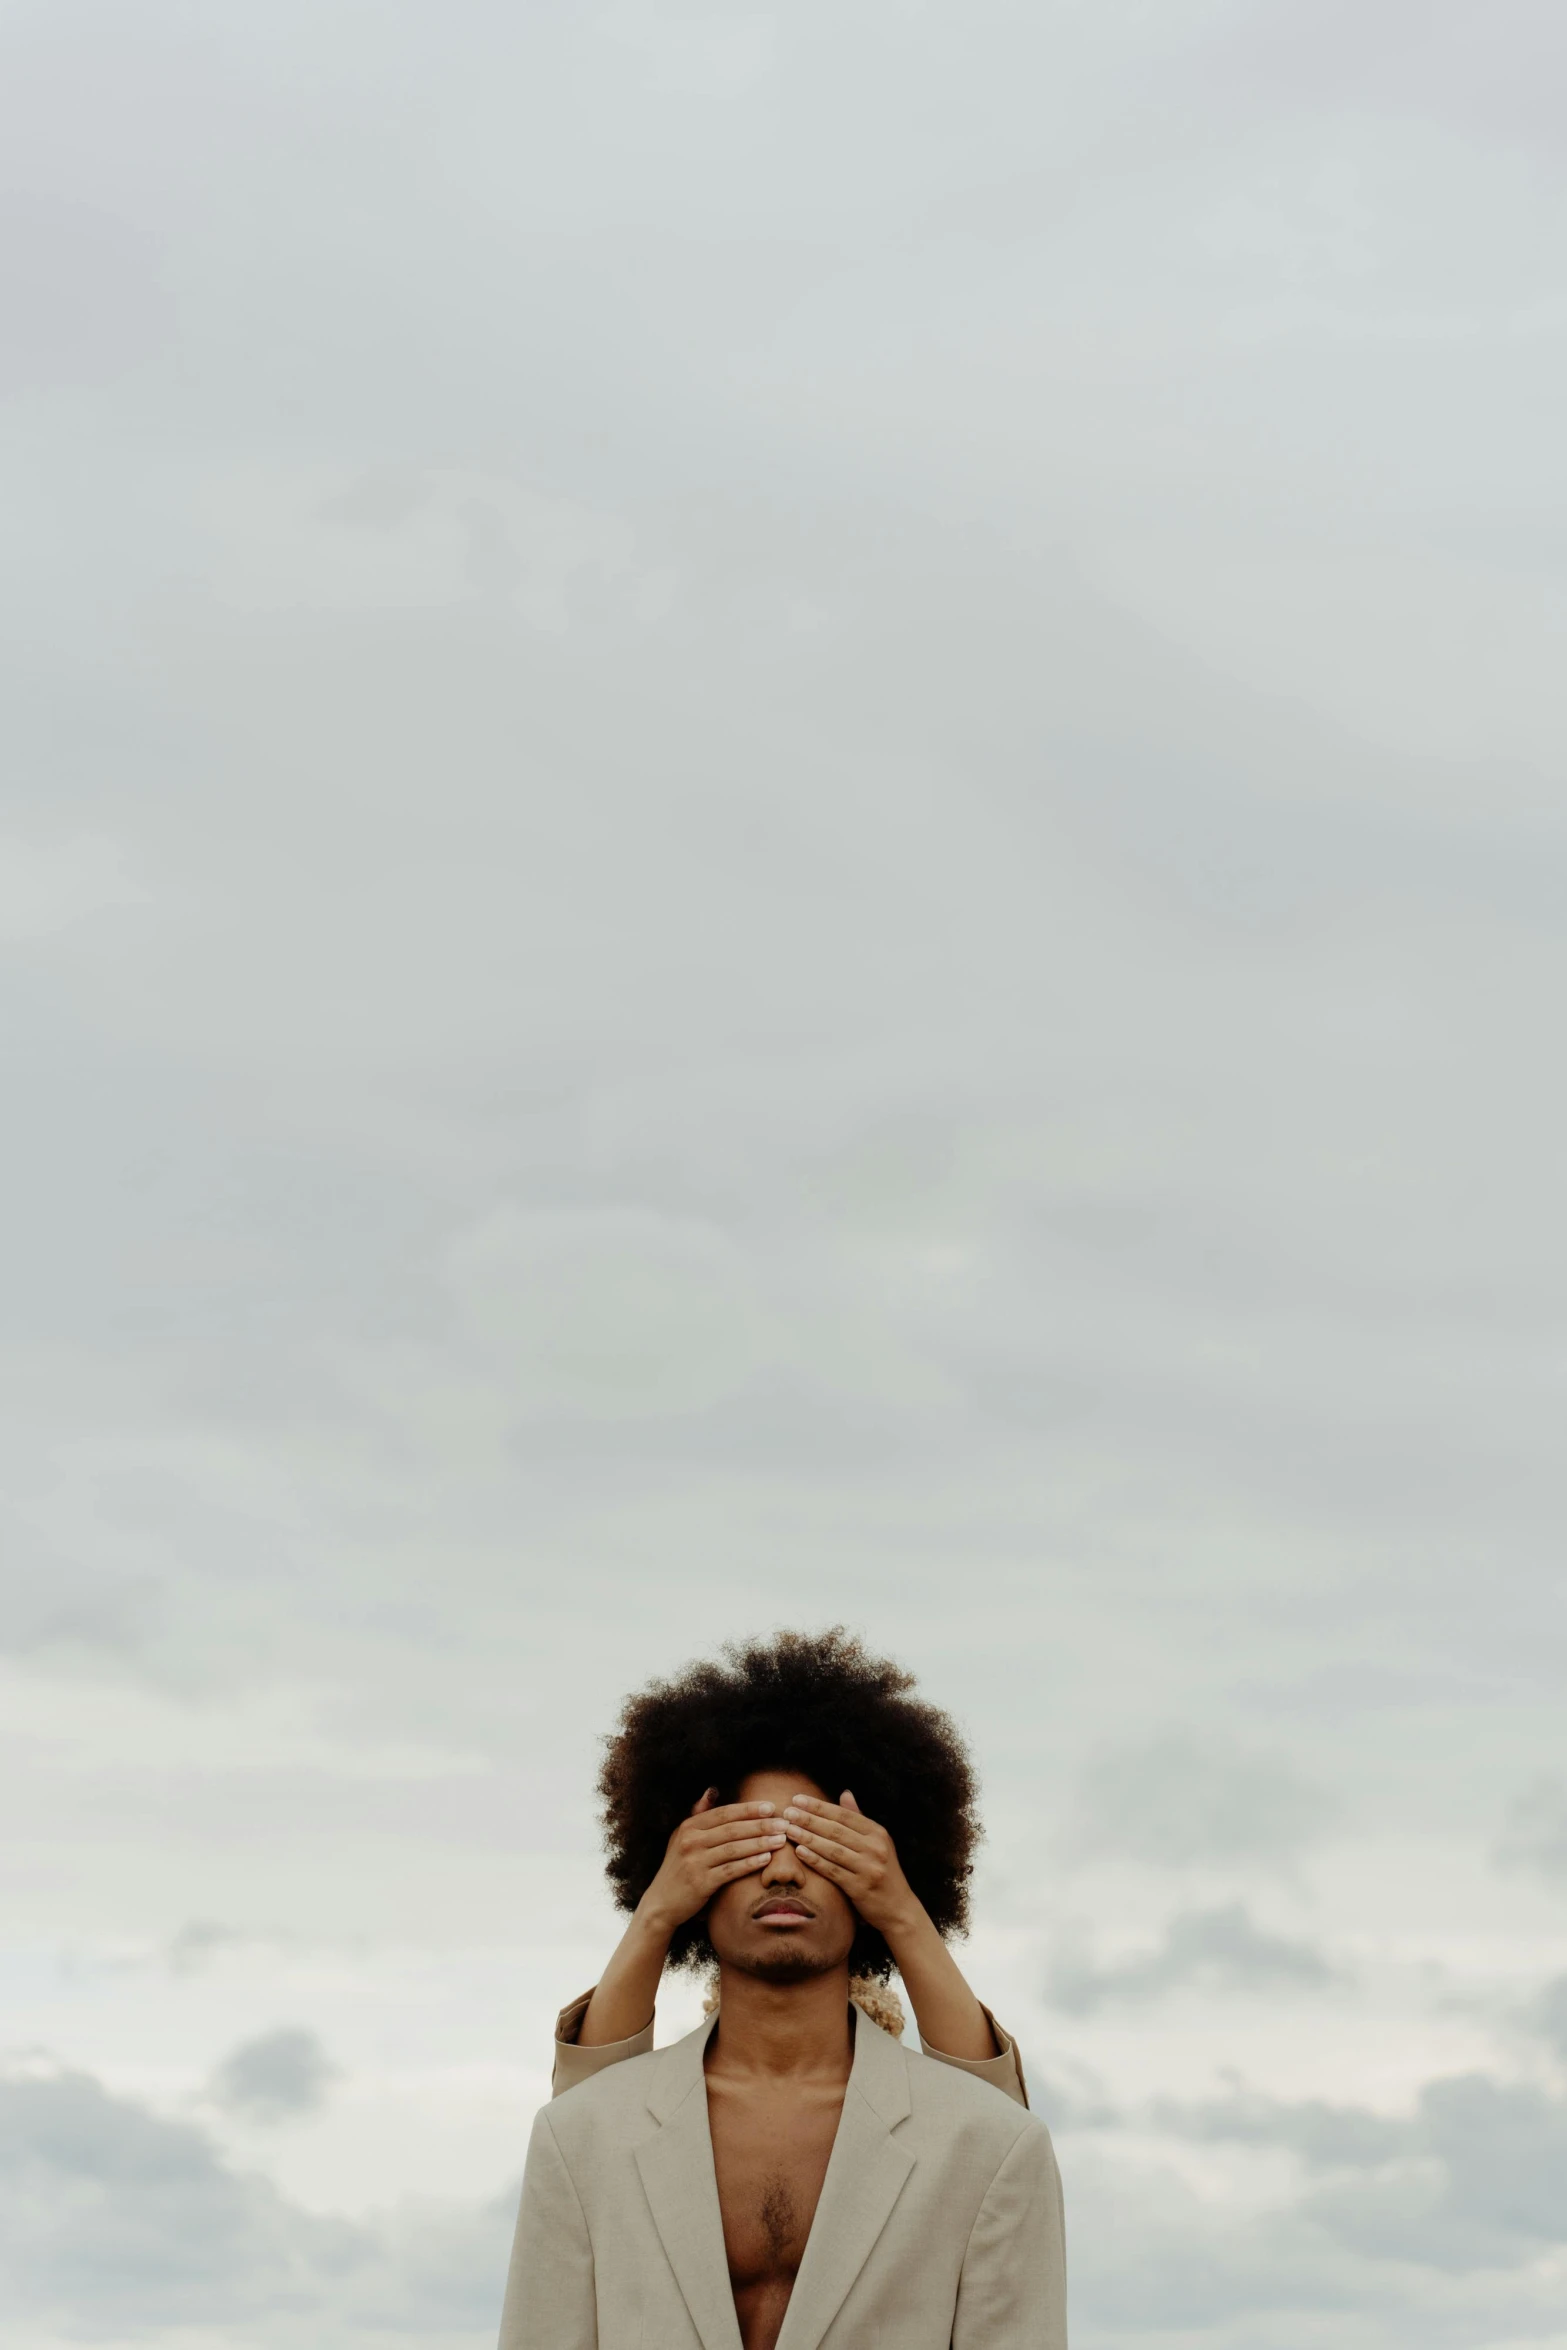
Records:
{"label": "bare chest of the man between his open blazer lapels", "polygon": [[745,2350],[773,2350],[822,2200],[843,2092],[754,2099],[707,2084],[724,2254]]}

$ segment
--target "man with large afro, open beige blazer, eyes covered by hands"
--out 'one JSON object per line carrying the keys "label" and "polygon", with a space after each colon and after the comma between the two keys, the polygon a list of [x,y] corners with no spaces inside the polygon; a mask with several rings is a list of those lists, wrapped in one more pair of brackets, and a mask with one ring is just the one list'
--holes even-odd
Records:
{"label": "man with large afro, open beige blazer, eyes covered by hands", "polygon": [[[1050,2136],[944,1943],[973,1772],[909,1690],[782,1633],[625,1706],[632,1922],[533,2124],[500,2350],[1064,2350]],[[663,1967],[705,1962],[717,2016],[653,2054]],[[893,1965],[921,2054],[850,2007]]]}

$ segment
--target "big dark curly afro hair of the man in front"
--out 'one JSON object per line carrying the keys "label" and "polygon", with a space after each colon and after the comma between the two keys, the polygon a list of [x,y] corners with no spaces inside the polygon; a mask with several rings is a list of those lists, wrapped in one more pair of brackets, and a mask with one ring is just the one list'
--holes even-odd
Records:
{"label": "big dark curly afro hair of the man in front", "polygon": [[[724,1659],[627,1697],[604,1741],[599,1795],[618,1906],[637,1908],[705,1788],[733,1802],[752,1772],[796,1770],[834,1802],[853,1788],[860,1810],[893,1838],[935,1929],[961,1934],[982,1833],[977,1781],[949,1718],[909,1694],[914,1676],[867,1654],[841,1624],[731,1643]],[[707,1922],[688,1918],[670,1943],[670,1965],[709,1962]],[[874,1981],[893,1972],[893,1953],[865,1920],[848,1965]]]}

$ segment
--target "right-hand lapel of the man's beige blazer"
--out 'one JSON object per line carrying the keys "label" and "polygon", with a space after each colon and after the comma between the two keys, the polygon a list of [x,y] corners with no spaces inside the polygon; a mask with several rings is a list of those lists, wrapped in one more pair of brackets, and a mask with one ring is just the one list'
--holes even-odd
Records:
{"label": "right-hand lapel of the man's beige blazer", "polygon": [[[893,2129],[909,2113],[909,2073],[902,2049],[869,2016],[855,2016],[855,2063],[843,2092],[843,2115],[832,2143],[822,2200],[815,2207],[806,2258],[778,2334],[778,2350],[818,2350],[822,2334],[872,2256],[914,2169],[914,2155]],[[709,2148],[712,2167],[712,2148]],[[717,2188],[714,2188],[717,2202]]]}

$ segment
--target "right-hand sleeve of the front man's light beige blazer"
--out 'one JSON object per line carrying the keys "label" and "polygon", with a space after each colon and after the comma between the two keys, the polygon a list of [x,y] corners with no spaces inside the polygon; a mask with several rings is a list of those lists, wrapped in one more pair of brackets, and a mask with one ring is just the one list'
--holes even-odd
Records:
{"label": "right-hand sleeve of the front man's light beige blazer", "polygon": [[968,2232],[951,2350],[1067,2350],[1067,2218],[1043,2122],[1022,2127]]}

